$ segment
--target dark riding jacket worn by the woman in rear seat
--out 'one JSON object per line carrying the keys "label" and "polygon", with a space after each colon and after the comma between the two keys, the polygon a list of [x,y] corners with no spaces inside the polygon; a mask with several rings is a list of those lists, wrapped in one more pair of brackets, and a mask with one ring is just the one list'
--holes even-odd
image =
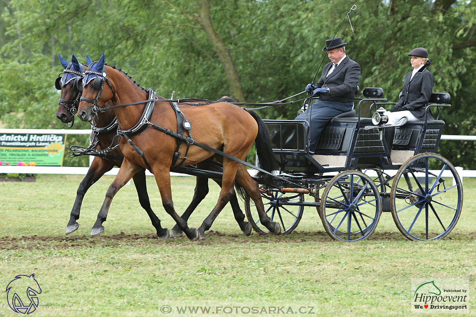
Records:
{"label": "dark riding jacket worn by the woman in rear seat", "polygon": [[[403,82],[403,94],[396,106],[403,106],[405,110],[412,111],[418,119],[425,119],[425,107],[430,100],[431,91],[433,90],[434,78],[433,74],[422,67],[419,69],[412,80],[412,72],[405,76]],[[428,114],[428,119],[433,119],[431,113]]]}

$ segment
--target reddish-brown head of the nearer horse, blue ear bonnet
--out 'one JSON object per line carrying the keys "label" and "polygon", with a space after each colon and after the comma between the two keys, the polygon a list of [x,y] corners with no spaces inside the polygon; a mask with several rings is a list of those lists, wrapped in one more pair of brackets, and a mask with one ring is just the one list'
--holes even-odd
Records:
{"label": "reddish-brown head of the nearer horse, blue ear bonnet", "polygon": [[99,108],[105,106],[114,97],[114,89],[108,79],[107,71],[104,53],[99,61],[88,64],[88,70],[84,72],[83,93],[78,106],[78,117],[81,120],[92,122],[97,117]]}

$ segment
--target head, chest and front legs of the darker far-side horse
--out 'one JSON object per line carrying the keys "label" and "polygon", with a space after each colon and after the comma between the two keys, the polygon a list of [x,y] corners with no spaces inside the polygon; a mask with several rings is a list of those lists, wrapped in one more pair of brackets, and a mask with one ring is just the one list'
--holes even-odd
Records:
{"label": "head, chest and front legs of the darker far-side horse", "polygon": [[[71,62],[68,62],[61,55],[60,62],[64,70],[61,74],[62,77],[58,77],[55,86],[58,90],[61,90],[61,97],[59,100],[58,110],[56,112],[57,118],[63,123],[74,123],[74,114],[77,112],[76,107],[79,103],[79,97],[81,97],[82,91],[82,77],[86,66],[81,65],[74,54],[71,57]],[[87,56],[88,63],[91,61]],[[112,103],[108,102],[109,106]],[[97,144],[92,150],[102,150],[109,147],[117,135],[116,117],[113,112],[105,113],[99,117],[99,121],[96,122],[95,129],[91,134],[91,142],[97,140]],[[70,125],[70,127],[72,124]],[[109,127],[109,128],[108,128]],[[73,233],[79,227],[77,220],[79,219],[79,213],[81,210],[81,204],[83,202],[84,195],[88,189],[97,182],[104,173],[110,171],[114,166],[120,166],[122,163],[123,155],[120,149],[117,148],[107,155],[96,156],[91,165],[89,166],[86,176],[79,184],[76,191],[76,199],[71,209],[69,221],[66,226],[66,235]],[[147,195],[147,186],[145,181],[145,169],[141,169],[134,176],[134,185],[139,196],[139,203],[141,207],[147,212],[152,225],[157,231],[157,237],[159,240],[167,239],[169,237],[169,231],[167,228],[162,228],[160,225],[160,219],[152,211],[150,207],[149,196]]]}

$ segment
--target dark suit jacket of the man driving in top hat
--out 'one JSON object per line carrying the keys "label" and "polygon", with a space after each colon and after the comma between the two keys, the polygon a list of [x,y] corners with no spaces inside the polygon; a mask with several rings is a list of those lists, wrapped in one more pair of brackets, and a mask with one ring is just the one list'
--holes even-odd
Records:
{"label": "dark suit jacket of the man driving in top hat", "polygon": [[324,66],[321,78],[316,83],[317,88],[329,88],[329,94],[321,95],[320,100],[353,103],[360,79],[360,66],[349,56],[346,56],[339,66],[326,77],[332,65],[333,63],[330,62]]}

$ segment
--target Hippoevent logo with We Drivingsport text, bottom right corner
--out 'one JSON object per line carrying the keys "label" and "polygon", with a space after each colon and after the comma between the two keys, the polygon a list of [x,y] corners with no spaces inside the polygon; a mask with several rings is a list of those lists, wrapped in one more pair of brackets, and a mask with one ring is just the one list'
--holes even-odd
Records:
{"label": "Hippoevent logo with We Drivingsport text, bottom right corner", "polygon": [[414,280],[414,313],[469,313],[469,283],[464,280]]}

